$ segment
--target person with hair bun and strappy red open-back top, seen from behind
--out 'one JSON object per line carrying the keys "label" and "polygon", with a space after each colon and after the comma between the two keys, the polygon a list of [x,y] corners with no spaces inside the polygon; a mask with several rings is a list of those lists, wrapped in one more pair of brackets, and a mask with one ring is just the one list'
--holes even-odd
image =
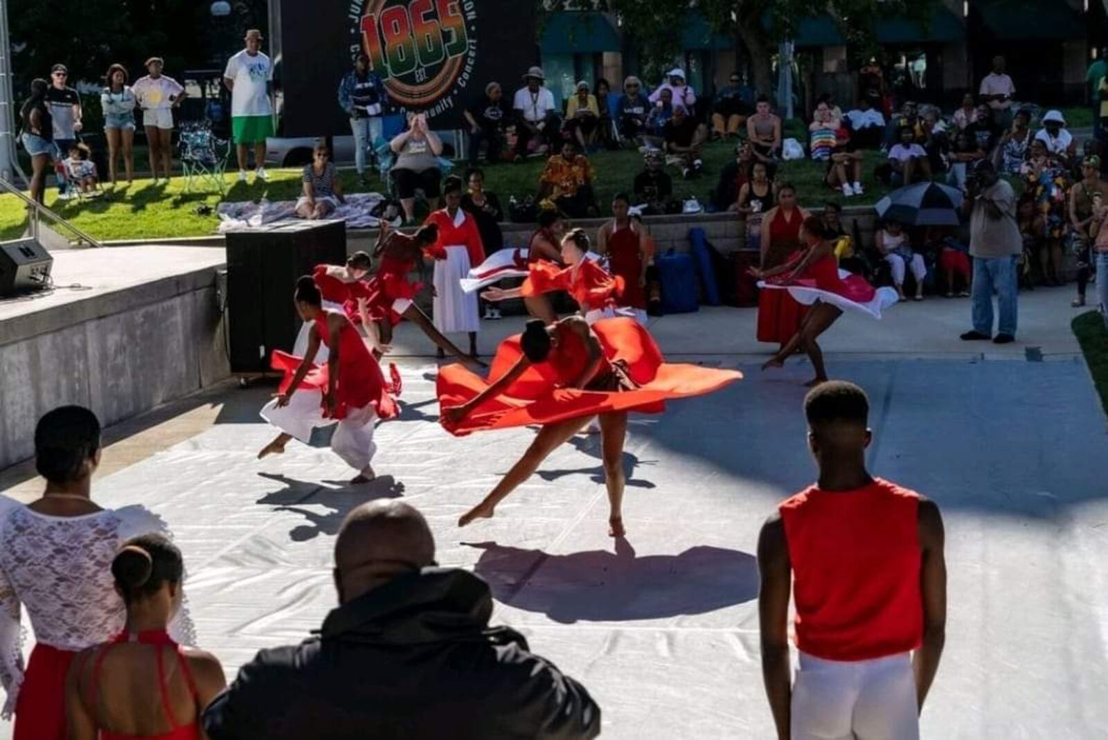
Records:
{"label": "person with hair bun and strappy red open-back top, seen from behind", "polygon": [[70,740],[196,740],[201,712],[227,686],[209,652],[178,645],[167,626],[181,598],[181,551],[134,537],[112,561],[126,626],[73,661],[65,687]]}

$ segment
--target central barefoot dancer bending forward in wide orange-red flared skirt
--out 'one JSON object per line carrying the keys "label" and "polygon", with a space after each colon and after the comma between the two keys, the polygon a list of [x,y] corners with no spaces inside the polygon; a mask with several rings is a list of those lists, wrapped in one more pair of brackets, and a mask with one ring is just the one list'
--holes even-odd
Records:
{"label": "central barefoot dancer bending forward in wide orange-red flared skirt", "polygon": [[623,449],[627,412],[658,413],[665,401],[719,390],[742,378],[735,370],[667,363],[645,328],[629,318],[602,319],[592,327],[572,316],[551,325],[529,321],[523,335],[496,350],[484,380],[451,364],[439,371],[440,422],[451,434],[540,424],[535,441],[484,501],[458,522],[491,517],[496,504],[558,445],[599,415],[608,534],[623,525]]}

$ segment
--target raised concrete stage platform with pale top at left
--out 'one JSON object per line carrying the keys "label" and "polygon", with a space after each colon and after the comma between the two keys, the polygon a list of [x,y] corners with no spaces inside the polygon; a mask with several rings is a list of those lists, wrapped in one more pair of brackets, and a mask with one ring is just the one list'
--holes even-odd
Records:
{"label": "raised concrete stage platform with pale top at left", "polygon": [[216,300],[222,248],[59,249],[54,287],[0,299],[0,467],[29,456],[63,403],[105,424],[228,376]]}

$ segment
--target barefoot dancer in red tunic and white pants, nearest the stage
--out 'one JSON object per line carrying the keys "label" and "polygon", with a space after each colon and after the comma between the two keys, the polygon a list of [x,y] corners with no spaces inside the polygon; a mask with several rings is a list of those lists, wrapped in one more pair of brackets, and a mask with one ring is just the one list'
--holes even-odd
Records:
{"label": "barefoot dancer in red tunic and white pants, nearest the stage", "polygon": [[[351,483],[368,483],[375,476],[373,423],[397,415],[381,368],[350,319],[322,308],[319,288],[309,276],[297,281],[296,308],[311,322],[308,349],[302,358],[274,352],[273,367],[285,371],[285,380],[277,398],[263,407],[261,418],[281,433],[258,459],[285,452],[293,438],[307,443],[312,428],[337,421],[331,450],[358,471]],[[330,350],[326,366],[315,363],[320,342]]]}

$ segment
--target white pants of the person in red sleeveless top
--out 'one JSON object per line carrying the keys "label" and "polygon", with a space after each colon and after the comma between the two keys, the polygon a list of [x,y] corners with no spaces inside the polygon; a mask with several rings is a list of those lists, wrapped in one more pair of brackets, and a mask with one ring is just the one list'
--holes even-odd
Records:
{"label": "white pants of the person in red sleeveless top", "polygon": [[792,740],[919,740],[911,654],[842,662],[800,654]]}

